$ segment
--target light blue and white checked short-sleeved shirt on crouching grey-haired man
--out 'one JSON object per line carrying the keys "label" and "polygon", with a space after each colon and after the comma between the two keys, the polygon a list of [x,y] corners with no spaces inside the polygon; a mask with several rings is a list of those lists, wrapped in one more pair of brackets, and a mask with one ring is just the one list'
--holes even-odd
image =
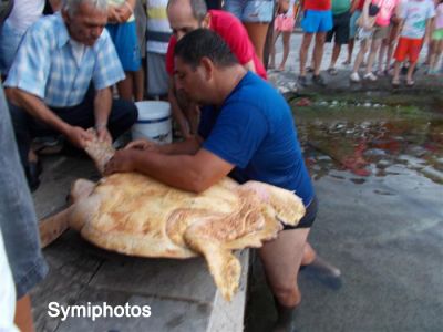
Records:
{"label": "light blue and white checked short-sleeved shirt on crouching grey-haired man", "polygon": [[44,17],[24,35],[4,86],[33,94],[52,107],[83,102],[91,82],[95,90],[109,87],[125,74],[106,30],[94,45],[85,46],[78,63],[60,13]]}

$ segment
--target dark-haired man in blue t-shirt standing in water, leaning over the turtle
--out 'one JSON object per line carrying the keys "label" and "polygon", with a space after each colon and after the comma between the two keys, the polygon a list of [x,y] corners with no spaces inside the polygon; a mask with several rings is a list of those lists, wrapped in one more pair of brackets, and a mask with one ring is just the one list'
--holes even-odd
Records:
{"label": "dark-haired man in blue t-shirt standing in water, leaning over the turtle", "polygon": [[[296,191],[307,207],[306,216],[295,229],[286,227],[259,249],[276,298],[278,324],[288,326],[301,300],[299,267],[318,261],[307,242],[317,200],[290,108],[207,29],[195,30],[177,43],[174,75],[177,87],[190,100],[214,105],[202,112],[199,136],[163,146],[133,142],[115,154],[106,173],[136,170],[196,193],[230,174],[240,183],[259,180]],[[332,272],[340,273],[337,269]]]}

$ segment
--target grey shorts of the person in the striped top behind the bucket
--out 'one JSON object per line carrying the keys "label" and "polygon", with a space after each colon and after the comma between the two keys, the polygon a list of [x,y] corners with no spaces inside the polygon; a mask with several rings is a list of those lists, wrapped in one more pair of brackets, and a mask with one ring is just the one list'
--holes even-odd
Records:
{"label": "grey shorts of the person in the striped top behind the bucket", "polygon": [[169,89],[169,76],[166,72],[166,54],[147,52],[147,95],[163,97]]}

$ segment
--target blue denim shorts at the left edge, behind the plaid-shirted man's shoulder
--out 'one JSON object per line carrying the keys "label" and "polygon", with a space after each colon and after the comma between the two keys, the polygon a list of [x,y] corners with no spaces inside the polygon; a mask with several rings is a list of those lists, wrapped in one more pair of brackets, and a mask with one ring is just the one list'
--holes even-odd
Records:
{"label": "blue denim shorts at the left edge, behind the plaid-shirted man's shoulder", "polygon": [[8,20],[1,28],[0,33],[0,72],[7,75],[16,58],[17,50],[24,32],[19,32]]}

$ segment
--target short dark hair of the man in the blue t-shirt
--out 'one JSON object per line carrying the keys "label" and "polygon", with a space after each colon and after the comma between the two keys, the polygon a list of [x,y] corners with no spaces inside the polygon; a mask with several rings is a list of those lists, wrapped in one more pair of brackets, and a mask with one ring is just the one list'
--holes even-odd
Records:
{"label": "short dark hair of the man in the blue t-shirt", "polygon": [[209,29],[197,29],[184,35],[175,45],[174,56],[179,56],[194,69],[204,56],[218,66],[238,63],[223,38]]}

